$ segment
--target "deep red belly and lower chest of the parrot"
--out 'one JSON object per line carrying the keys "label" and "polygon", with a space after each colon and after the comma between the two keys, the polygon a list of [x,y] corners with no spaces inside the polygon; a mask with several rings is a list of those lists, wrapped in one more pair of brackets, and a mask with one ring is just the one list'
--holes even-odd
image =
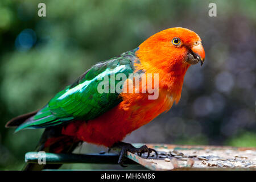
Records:
{"label": "deep red belly and lower chest of the parrot", "polygon": [[110,147],[169,110],[173,104],[173,99],[168,93],[159,92],[159,97],[155,100],[148,100],[146,94],[136,97],[136,100],[123,100],[96,119],[80,122],[76,137],[85,142]]}

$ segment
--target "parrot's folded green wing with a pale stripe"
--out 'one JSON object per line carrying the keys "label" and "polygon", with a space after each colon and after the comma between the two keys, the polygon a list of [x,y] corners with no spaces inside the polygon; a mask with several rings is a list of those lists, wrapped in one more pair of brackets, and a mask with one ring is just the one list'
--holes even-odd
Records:
{"label": "parrot's folded green wing with a pale stripe", "polygon": [[[117,73],[124,73],[126,77],[129,76],[129,73],[133,73],[134,61],[138,60],[135,56],[137,49],[94,65],[76,82],[57,93],[43,109],[15,131],[61,125],[77,119],[89,120],[117,106],[121,102],[119,94],[110,93],[110,88],[109,93],[99,93],[98,84],[106,76],[110,82],[110,77]],[[119,81],[115,81],[115,84],[117,82]]]}

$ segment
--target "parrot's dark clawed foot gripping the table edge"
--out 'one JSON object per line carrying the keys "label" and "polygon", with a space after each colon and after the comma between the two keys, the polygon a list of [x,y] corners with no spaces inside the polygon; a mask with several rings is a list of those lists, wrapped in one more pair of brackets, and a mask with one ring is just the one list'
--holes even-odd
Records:
{"label": "parrot's dark clawed foot gripping the table edge", "polygon": [[[135,148],[132,144],[130,143],[125,143],[125,142],[117,142],[115,144],[113,144],[113,146],[111,148],[120,148],[121,151],[119,153],[119,159],[118,159],[118,164],[120,164],[122,167],[127,167],[125,165],[123,165],[123,156],[126,154],[126,152],[131,152],[131,153],[137,153],[139,156],[141,156],[142,154],[144,154],[145,152],[147,152],[147,158],[150,156],[151,152],[155,152],[156,154],[156,158],[158,158],[158,152],[156,152],[154,149],[152,148],[148,148],[147,146],[142,146],[139,148]],[[109,148],[109,151],[110,149]]]}

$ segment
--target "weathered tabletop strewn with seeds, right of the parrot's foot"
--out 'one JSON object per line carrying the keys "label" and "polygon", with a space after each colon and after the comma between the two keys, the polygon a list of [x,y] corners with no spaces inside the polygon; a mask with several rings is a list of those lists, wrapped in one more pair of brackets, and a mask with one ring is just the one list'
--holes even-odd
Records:
{"label": "weathered tabletop strewn with seeds, right of the parrot's foot", "polygon": [[[139,147],[141,144],[135,144]],[[256,170],[256,148],[147,144],[158,151],[148,159],[127,152],[127,157],[151,170]]]}

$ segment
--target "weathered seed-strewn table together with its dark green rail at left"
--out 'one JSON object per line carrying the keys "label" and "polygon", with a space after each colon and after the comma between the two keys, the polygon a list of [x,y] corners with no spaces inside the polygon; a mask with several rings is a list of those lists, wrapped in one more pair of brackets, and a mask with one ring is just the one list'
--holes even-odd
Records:
{"label": "weathered seed-strewn table together with its dark green rail at left", "polygon": [[[135,147],[143,144],[135,143]],[[150,170],[256,170],[256,148],[226,146],[179,146],[146,144],[158,151],[138,156],[127,152],[125,164],[141,164]],[[42,156],[41,156],[42,157]],[[38,163],[38,152],[28,152],[27,163]],[[52,154],[46,153],[46,163],[117,164],[118,154]],[[124,168],[125,169],[125,168]]]}

